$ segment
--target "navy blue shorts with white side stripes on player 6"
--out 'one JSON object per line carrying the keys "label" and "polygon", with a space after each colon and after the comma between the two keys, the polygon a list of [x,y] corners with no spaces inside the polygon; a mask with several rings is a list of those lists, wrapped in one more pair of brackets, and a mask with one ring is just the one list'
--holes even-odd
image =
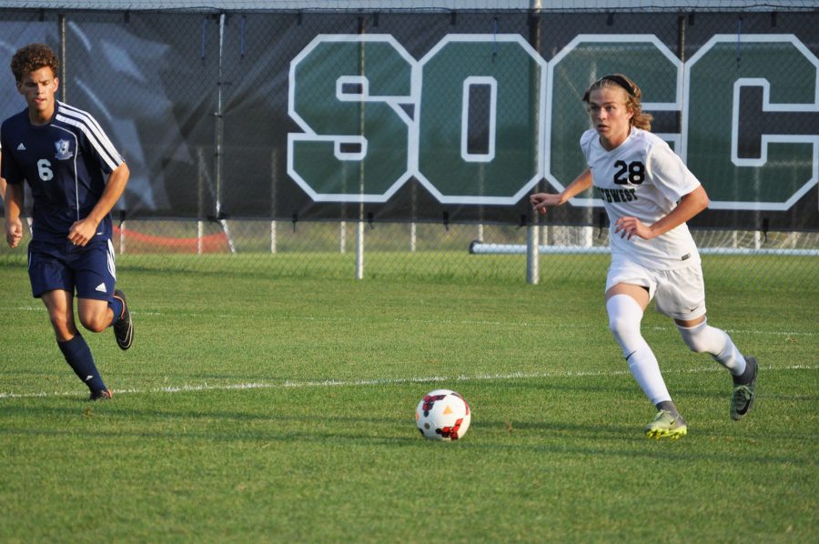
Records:
{"label": "navy blue shorts with white side stripes on player 6", "polygon": [[47,291],[76,291],[78,298],[111,300],[116,283],[114,245],[111,240],[86,247],[31,242],[28,277],[35,298]]}

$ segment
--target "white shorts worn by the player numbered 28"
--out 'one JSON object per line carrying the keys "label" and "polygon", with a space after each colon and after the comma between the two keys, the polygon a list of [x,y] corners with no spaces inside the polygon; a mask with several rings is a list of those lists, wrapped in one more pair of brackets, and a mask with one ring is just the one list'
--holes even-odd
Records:
{"label": "white shorts worn by the player numbered 28", "polygon": [[651,270],[627,260],[612,260],[606,291],[619,283],[647,287],[657,311],[689,321],[705,315],[705,283],[699,263],[674,270]]}

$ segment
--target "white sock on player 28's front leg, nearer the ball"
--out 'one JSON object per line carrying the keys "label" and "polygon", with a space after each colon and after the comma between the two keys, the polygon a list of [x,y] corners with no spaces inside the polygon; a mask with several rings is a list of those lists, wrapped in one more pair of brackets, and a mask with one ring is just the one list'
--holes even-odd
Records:
{"label": "white sock on player 28's front leg, nearer the ball", "polygon": [[609,328],[620,344],[622,355],[628,361],[632,376],[640,384],[642,392],[654,406],[664,400],[671,400],[662,380],[657,358],[640,334],[640,305],[628,295],[614,295],[606,301],[606,310],[609,312]]}

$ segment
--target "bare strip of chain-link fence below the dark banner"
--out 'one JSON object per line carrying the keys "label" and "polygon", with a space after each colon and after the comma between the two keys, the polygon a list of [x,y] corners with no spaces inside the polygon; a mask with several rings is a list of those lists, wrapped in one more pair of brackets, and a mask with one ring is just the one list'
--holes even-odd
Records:
{"label": "bare strip of chain-link fence below the dark banner", "polygon": [[[538,234],[540,283],[605,283],[607,228],[541,226]],[[816,290],[816,233],[697,230],[693,236],[711,285],[717,276],[740,288]],[[135,220],[116,228],[115,247],[121,269],[523,283],[527,239],[527,227],[506,225]],[[25,267],[25,251],[0,248],[0,265]]]}

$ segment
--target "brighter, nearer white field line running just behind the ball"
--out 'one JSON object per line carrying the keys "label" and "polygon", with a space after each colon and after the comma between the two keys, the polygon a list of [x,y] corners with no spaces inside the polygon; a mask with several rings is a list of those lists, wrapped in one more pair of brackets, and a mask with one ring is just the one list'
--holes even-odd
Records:
{"label": "brighter, nearer white field line running just behind the ball", "polygon": [[[788,367],[766,368],[765,372],[783,372],[789,370],[817,370],[819,367],[811,365],[792,365]],[[703,368],[690,368],[687,370],[666,371],[663,374],[702,374],[705,372],[720,372],[722,367],[712,366]],[[306,388],[350,388],[350,387],[369,387],[369,386],[391,386],[403,385],[413,383],[452,383],[463,381],[504,381],[512,379],[539,379],[539,378],[583,378],[583,377],[613,377],[628,375],[628,370],[610,370],[610,371],[568,371],[568,372],[512,372],[510,374],[475,374],[471,376],[429,376],[424,378],[374,378],[374,379],[355,379],[355,380],[314,380],[314,381],[284,381],[280,383],[273,382],[248,382],[238,384],[224,384],[224,385],[207,385],[202,383],[199,385],[185,384],[181,386],[167,386],[164,388],[128,388],[128,389],[113,389],[116,395],[144,395],[148,393],[188,393],[199,391],[230,391],[236,389],[306,389]],[[50,397],[76,397],[76,391],[55,391],[48,393],[42,391],[40,393],[14,393],[14,392],[0,392],[0,399],[3,398],[50,398]]]}

